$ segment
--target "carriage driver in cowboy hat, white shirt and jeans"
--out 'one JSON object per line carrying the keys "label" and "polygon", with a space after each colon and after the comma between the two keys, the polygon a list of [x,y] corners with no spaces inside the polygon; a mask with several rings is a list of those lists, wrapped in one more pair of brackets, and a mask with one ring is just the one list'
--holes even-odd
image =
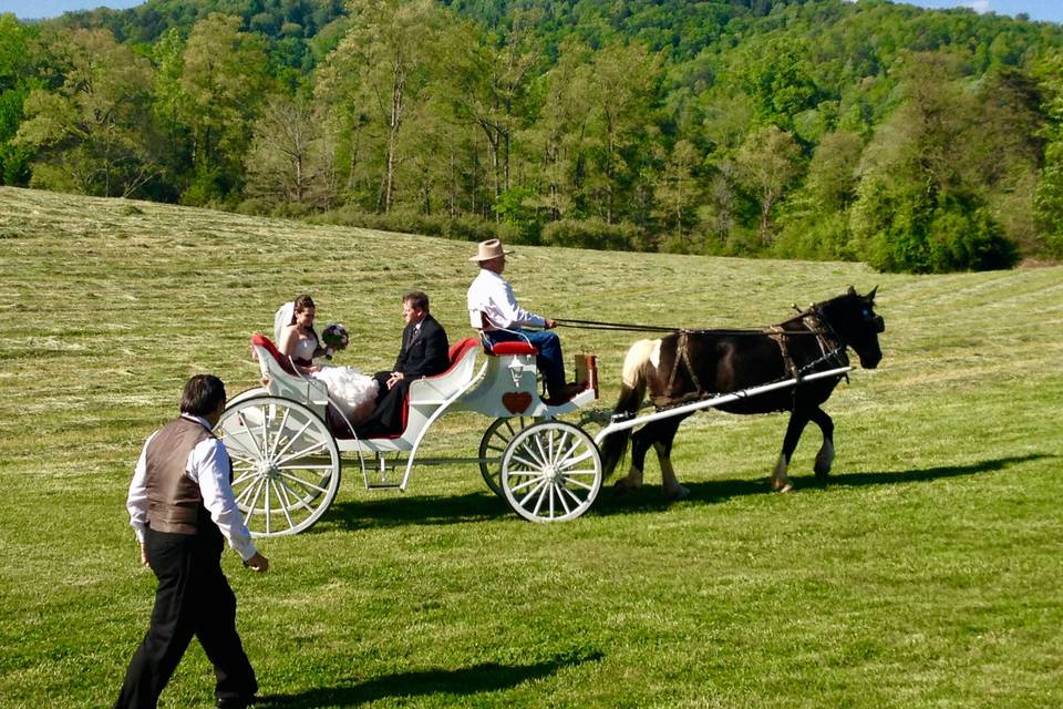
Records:
{"label": "carriage driver in cowboy hat, white shirt and jeans", "polygon": [[[561,341],[550,330],[555,322],[550,318],[528,312],[513,295],[513,287],[502,277],[506,268],[506,250],[498,239],[481,242],[468,260],[479,265],[479,274],[468,287],[469,323],[483,330],[484,337],[492,343],[514,340],[530,342],[538,351],[536,366],[546,379],[546,389],[550,401],[560,403],[572,398],[579,390],[576,384],[565,383],[565,361],[561,357]],[[538,327],[543,330],[525,330]]]}

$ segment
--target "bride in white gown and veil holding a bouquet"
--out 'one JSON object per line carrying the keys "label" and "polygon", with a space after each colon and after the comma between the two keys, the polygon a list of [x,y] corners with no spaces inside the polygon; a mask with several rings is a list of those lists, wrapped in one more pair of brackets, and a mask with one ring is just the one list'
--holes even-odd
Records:
{"label": "bride in white gown and veil holding a bouquet", "polygon": [[299,370],[324,383],[329,397],[352,424],[369,418],[376,405],[376,381],[353,367],[333,367],[314,359],[331,356],[313,329],[314,306],[310,296],[299,296],[286,302],[274,318],[277,349],[291,357]]}

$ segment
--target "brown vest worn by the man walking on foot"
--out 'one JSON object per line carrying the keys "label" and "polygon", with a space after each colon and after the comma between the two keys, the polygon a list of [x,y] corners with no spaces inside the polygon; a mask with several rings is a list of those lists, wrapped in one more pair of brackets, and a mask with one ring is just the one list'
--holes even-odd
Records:
{"label": "brown vest worn by the man walking on foot", "polygon": [[164,425],[147,445],[147,523],[156,532],[196,534],[209,522],[199,485],[185,469],[192,450],[213,438],[202,424],[180,418]]}

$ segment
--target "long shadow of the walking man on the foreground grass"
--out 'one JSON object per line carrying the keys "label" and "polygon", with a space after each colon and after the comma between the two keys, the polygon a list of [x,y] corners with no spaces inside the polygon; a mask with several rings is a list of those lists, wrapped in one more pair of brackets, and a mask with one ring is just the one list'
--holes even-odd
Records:
{"label": "long shadow of the walking man on the foreground grass", "polygon": [[264,695],[256,707],[311,709],[316,707],[355,707],[388,697],[426,695],[468,696],[510,689],[528,680],[549,677],[556,671],[600,660],[598,650],[579,649],[530,665],[483,662],[461,669],[426,669],[384,675],[362,682],[340,680],[332,687],[314,687],[292,695]]}

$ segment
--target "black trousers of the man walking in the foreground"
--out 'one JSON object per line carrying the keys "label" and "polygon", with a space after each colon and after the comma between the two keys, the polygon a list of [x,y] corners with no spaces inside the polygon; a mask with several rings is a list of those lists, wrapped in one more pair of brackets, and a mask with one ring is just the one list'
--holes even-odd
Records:
{"label": "black trousers of the man walking in the foreground", "polygon": [[158,588],[115,709],[154,709],[193,636],[214,665],[217,698],[249,698],[258,682],[236,633],[236,596],[221,573],[218,528],[196,535],[149,528],[144,541]]}

